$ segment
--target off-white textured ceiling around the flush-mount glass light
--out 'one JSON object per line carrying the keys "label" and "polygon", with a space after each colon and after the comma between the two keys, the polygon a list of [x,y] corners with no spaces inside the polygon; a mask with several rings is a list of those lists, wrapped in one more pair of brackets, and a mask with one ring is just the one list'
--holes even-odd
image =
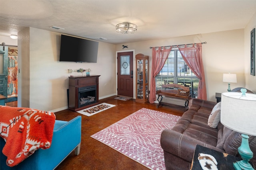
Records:
{"label": "off-white textured ceiling around the flush-mount glass light", "polygon": [[[34,27],[118,44],[241,29],[255,12],[256,0],[0,0],[0,35]],[[138,31],[117,33],[124,21]]]}

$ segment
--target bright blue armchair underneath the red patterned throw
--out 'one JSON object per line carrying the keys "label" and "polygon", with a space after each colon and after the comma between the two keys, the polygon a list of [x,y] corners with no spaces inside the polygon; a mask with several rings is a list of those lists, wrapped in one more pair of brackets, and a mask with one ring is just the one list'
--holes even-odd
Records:
{"label": "bright blue armchair underneath the red patterned throw", "polygon": [[0,170],[53,170],[73,150],[78,155],[81,143],[81,121],[81,116],[70,121],[56,120],[51,147],[36,150],[34,154],[14,167],[6,165],[7,157],[2,153],[5,141],[0,137]]}

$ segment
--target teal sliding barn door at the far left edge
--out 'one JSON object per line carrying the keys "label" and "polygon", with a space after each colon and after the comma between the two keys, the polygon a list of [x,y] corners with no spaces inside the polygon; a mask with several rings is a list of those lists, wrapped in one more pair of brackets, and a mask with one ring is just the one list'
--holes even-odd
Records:
{"label": "teal sliding barn door at the far left edge", "polygon": [[[8,47],[0,46],[0,94],[7,97]],[[4,102],[6,103],[7,100]]]}

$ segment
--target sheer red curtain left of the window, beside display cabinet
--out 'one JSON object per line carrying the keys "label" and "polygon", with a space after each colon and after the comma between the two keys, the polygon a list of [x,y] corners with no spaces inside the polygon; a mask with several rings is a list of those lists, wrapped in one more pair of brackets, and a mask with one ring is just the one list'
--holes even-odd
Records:
{"label": "sheer red curtain left of the window, beside display cabinet", "polygon": [[149,96],[149,102],[151,104],[153,104],[154,101],[156,100],[155,77],[160,72],[160,70],[162,70],[164,63],[170,54],[171,49],[172,47],[170,47],[170,49],[166,49],[165,47],[163,47],[162,49],[161,47],[158,47],[157,50],[155,47],[152,48],[152,71],[151,71],[150,96]]}

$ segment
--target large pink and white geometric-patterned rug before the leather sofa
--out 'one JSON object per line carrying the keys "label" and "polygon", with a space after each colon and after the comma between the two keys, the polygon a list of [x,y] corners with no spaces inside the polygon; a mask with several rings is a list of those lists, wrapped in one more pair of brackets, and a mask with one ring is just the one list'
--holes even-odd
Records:
{"label": "large pink and white geometric-patterned rug before the leather sofa", "polygon": [[151,170],[164,170],[160,137],[180,116],[142,108],[91,137]]}

